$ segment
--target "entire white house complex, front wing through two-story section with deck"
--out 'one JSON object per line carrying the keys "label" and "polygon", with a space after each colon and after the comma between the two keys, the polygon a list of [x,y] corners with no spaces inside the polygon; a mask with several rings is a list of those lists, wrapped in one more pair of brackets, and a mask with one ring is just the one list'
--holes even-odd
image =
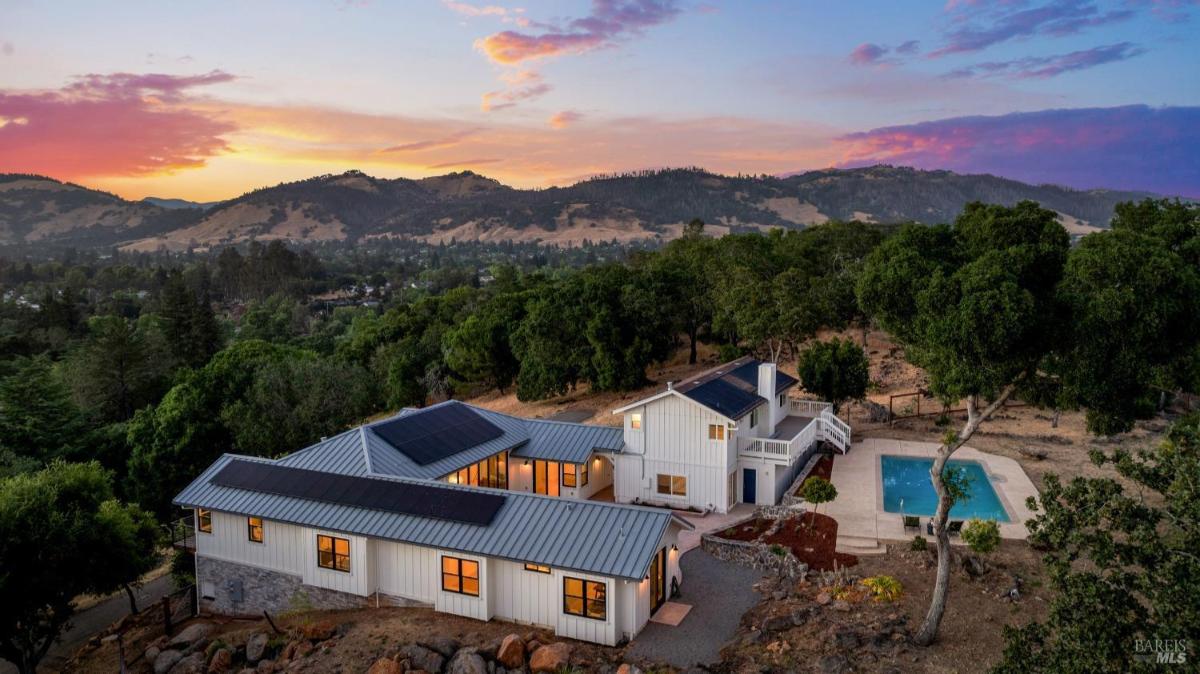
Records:
{"label": "entire white house complex, front wing through two-story section with deck", "polygon": [[226,455],[174,501],[194,511],[202,607],[422,604],[632,638],[684,580],[671,508],[778,503],[818,441],[848,446],[796,384],[742,359],[614,410],[624,427],[446,401],[280,459]]}

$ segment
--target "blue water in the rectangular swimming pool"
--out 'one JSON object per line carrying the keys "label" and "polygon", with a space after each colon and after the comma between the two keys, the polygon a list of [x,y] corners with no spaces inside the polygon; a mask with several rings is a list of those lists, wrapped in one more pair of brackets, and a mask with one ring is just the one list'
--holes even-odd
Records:
{"label": "blue water in the rectangular swimming pool", "polygon": [[[929,469],[934,465],[931,458],[881,456],[883,476],[883,510],[904,512],[905,514],[931,516],[937,510],[937,493],[929,480]],[[967,498],[954,504],[950,519],[995,519],[1008,522],[996,489],[983,467],[973,461],[950,461],[949,467],[966,470],[970,486]],[[901,500],[904,501],[901,504]]]}

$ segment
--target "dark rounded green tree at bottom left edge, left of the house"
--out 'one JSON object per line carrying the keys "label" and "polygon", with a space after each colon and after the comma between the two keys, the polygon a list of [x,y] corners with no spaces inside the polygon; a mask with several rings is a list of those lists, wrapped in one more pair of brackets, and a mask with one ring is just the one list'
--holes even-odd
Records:
{"label": "dark rounded green tree at bottom left edge, left of the house", "polygon": [[0,656],[32,674],[71,601],[127,586],[157,562],[154,520],[113,499],[98,463],[0,481]]}

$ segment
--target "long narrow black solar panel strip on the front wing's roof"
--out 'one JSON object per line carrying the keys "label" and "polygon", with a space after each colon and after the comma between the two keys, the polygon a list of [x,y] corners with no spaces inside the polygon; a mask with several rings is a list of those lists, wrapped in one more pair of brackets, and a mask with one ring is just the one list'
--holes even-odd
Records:
{"label": "long narrow black solar panel strip on the front wing's roof", "polygon": [[241,459],[230,461],[210,482],[218,487],[466,524],[491,524],[504,505],[502,494],[390,482]]}

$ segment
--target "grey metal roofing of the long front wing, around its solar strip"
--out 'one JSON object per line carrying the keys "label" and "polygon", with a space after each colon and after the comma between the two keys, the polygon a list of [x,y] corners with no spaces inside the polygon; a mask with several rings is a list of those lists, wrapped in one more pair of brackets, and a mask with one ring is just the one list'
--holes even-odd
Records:
{"label": "grey metal roofing of the long front wing, around its solar strip", "polygon": [[[203,507],[630,580],[644,578],[672,522],[692,528],[668,510],[524,492],[503,492],[504,505],[491,524],[476,525],[214,485],[212,476],[234,459],[272,463],[270,459],[224,455],[180,492],[173,503],[181,507]],[[397,488],[404,485],[427,486],[427,482],[402,477],[368,479],[395,482]],[[455,485],[439,487],[497,493]]]}

